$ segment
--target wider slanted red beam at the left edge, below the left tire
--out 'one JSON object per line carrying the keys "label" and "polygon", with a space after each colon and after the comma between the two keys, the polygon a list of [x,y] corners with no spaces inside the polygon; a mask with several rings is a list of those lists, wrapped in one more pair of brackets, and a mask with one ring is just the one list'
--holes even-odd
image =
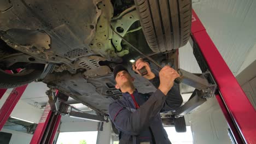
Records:
{"label": "wider slanted red beam at the left edge, below the left tire", "polygon": [[14,88],[13,91],[11,91],[7,100],[4,102],[3,106],[0,109],[0,130],[3,128],[15,105],[20,100],[20,97],[24,93],[26,87],[27,85]]}

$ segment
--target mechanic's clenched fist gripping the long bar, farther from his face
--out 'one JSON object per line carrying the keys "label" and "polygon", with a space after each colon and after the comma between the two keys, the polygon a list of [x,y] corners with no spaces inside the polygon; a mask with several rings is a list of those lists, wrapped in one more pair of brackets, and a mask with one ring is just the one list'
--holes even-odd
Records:
{"label": "mechanic's clenched fist gripping the long bar, farther from his face", "polygon": [[160,85],[158,89],[165,95],[170,91],[174,84],[174,80],[179,77],[176,70],[172,69],[170,66],[166,65],[159,72]]}

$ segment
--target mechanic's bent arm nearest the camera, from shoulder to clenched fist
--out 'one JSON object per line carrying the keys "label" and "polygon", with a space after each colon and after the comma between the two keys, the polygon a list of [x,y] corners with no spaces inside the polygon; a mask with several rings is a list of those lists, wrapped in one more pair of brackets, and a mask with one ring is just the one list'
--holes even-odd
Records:
{"label": "mechanic's bent arm nearest the camera, from shoulder to clenched fist", "polygon": [[165,102],[166,94],[172,88],[174,80],[179,77],[179,74],[171,67],[165,66],[160,70],[159,77],[158,89],[135,112],[129,111],[117,102],[109,105],[109,116],[119,130],[130,135],[138,135],[159,113]]}

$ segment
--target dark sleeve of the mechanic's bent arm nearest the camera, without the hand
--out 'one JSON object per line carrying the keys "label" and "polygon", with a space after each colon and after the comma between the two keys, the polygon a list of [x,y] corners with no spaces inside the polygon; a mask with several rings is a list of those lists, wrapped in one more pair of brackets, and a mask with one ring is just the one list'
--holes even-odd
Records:
{"label": "dark sleeve of the mechanic's bent arm nearest the camera, without the hand", "polygon": [[118,103],[109,105],[109,116],[115,126],[123,133],[138,135],[157,115],[165,101],[165,94],[157,89],[150,98],[135,112],[131,112]]}

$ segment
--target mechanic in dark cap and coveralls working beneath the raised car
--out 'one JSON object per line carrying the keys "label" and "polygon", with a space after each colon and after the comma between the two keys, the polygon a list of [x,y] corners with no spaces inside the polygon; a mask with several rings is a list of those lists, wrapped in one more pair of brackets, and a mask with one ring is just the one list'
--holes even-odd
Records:
{"label": "mechanic in dark cap and coveralls working beneath the raised car", "polygon": [[166,65],[158,76],[143,59],[138,59],[132,67],[137,73],[145,67],[148,74],[144,77],[158,89],[154,93],[139,93],[127,69],[123,65],[114,68],[115,88],[120,89],[123,97],[109,105],[109,116],[119,131],[119,143],[171,143],[159,112],[181,106],[183,99],[178,84],[174,83],[179,74]]}

